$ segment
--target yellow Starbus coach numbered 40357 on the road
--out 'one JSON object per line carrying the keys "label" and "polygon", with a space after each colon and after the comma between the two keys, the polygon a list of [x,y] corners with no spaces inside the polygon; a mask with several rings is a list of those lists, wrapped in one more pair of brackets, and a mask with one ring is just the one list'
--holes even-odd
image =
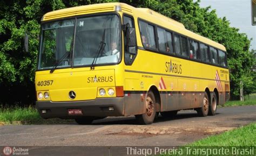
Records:
{"label": "yellow Starbus coach numbered 40357 on the road", "polygon": [[109,116],[151,124],[187,109],[213,116],[230,97],[223,45],[124,3],[46,13],[35,85],[41,117],[78,124]]}

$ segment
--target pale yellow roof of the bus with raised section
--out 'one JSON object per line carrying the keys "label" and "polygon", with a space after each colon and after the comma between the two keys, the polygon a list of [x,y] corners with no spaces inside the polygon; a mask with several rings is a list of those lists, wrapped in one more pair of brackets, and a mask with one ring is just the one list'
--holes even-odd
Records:
{"label": "pale yellow roof of the bus with raised section", "polygon": [[[91,13],[100,13],[100,12],[113,12],[113,11],[122,11],[125,13],[129,13],[134,17],[138,17],[145,21],[150,21],[151,23],[157,24],[163,28],[175,31],[180,33],[181,35],[188,36],[190,38],[199,40],[205,44],[214,46],[220,50],[226,51],[225,46],[214,42],[211,39],[206,37],[200,36],[197,33],[194,33],[190,30],[187,30],[182,23],[175,21],[169,17],[161,15],[160,13],[153,11],[148,8],[134,8],[131,5],[125,3],[101,3],[101,4],[92,4],[92,5],[83,5],[77,6],[67,9],[60,9],[56,11],[51,11],[46,13],[42,17],[43,21],[49,21],[53,19],[65,18],[65,17],[72,17],[72,16],[79,16]],[[139,16],[138,16],[139,15]]]}

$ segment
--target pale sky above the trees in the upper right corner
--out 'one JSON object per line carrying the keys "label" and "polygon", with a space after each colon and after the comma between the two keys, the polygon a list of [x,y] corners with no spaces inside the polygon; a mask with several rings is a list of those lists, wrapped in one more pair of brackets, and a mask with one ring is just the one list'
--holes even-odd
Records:
{"label": "pale sky above the trees in the upper right corner", "polygon": [[218,17],[226,17],[232,27],[253,38],[250,49],[256,50],[256,25],[252,26],[251,0],[201,0],[201,8],[211,6]]}

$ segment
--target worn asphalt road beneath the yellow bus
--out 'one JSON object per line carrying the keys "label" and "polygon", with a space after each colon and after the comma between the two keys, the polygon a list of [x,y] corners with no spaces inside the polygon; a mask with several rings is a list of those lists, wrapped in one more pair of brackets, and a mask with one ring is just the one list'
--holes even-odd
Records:
{"label": "worn asphalt road beneath the yellow bus", "polygon": [[111,117],[92,125],[4,125],[0,146],[180,146],[208,135],[256,121],[256,106],[220,107],[215,116],[196,111],[159,117],[152,125],[137,125],[134,117]]}

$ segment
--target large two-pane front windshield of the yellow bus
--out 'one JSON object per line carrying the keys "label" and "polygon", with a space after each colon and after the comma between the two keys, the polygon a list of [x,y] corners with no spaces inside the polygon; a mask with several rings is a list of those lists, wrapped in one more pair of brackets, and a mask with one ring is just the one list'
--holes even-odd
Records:
{"label": "large two-pane front windshield of the yellow bus", "polygon": [[[117,15],[80,17],[42,25],[38,69],[97,64],[120,60],[120,23]],[[99,46],[104,49],[99,52]]]}

